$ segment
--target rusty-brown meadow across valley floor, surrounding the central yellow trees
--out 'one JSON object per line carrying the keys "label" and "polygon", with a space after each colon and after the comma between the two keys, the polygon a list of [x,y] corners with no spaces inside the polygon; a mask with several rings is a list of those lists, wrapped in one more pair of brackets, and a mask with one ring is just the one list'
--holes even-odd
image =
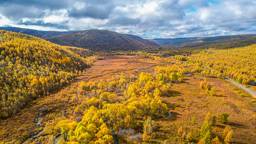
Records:
{"label": "rusty-brown meadow across valley floor, surrounding the central yellow trees", "polygon": [[[160,68],[164,69],[170,66],[175,68],[177,65],[187,63],[186,61],[179,60],[176,64],[165,62],[166,60],[177,62],[177,57],[176,59],[162,59],[153,60],[139,56],[122,55],[106,56],[102,60],[98,60],[93,66],[85,69],[76,78],[74,83],[66,85],[60,91],[55,91],[49,96],[32,101],[30,105],[11,118],[1,120],[1,143],[7,144],[9,142],[10,144],[19,144],[45,127],[38,138],[29,139],[25,144],[52,144],[57,136],[63,135],[60,128],[61,121],[68,123],[84,121],[83,116],[86,114],[84,113],[83,115],[83,111],[89,108],[87,107],[89,104],[85,104],[83,100],[86,101],[86,98],[92,97],[92,90],[97,90],[98,88],[97,86],[95,88],[85,87],[84,92],[81,92],[79,87],[81,88],[81,83],[83,84],[83,82],[87,85],[90,81],[95,82],[95,85],[98,85],[100,82],[104,83],[103,81],[105,81],[105,84],[110,84],[114,80],[119,81],[120,77],[123,77],[126,80],[134,79],[133,81],[129,80],[134,83],[136,80],[139,80],[141,72],[151,73],[153,77],[157,77],[158,72],[161,71]],[[156,70],[156,67],[158,67],[158,70]],[[198,143],[202,138],[200,130],[208,112],[217,117],[224,112],[229,115],[227,123],[221,123],[217,120],[216,125],[212,127],[212,139],[218,136],[219,141],[224,142],[225,135],[223,132],[225,129],[229,129],[232,131],[232,143],[253,144],[256,142],[255,98],[224,79],[214,78],[212,76],[205,77],[200,72],[194,72],[190,75],[187,75],[185,72],[181,77],[181,82],[171,84],[168,95],[161,94],[162,102],[166,104],[167,109],[172,113],[171,117],[154,120],[155,128],[148,139],[143,139],[142,136],[144,132],[144,120],[146,118],[136,116],[136,119],[139,118],[140,120],[134,120],[135,123],[132,125],[122,127],[107,123],[108,128],[113,129],[116,133],[119,144]],[[214,87],[215,91],[209,93],[205,89],[202,89],[200,83],[204,80],[211,87]],[[124,87],[124,89],[128,90],[128,87],[129,85],[126,88]],[[116,88],[111,88],[110,93],[116,94],[119,98],[126,93],[122,90],[117,91],[117,85]],[[108,88],[105,90],[109,91]],[[80,94],[83,93],[80,96],[80,99],[83,100],[74,100],[78,91]],[[98,96],[98,99],[100,100],[100,96]],[[119,103],[121,101],[117,100]],[[166,115],[161,114],[158,117]],[[39,126],[36,125],[38,116],[41,117],[41,125]],[[132,132],[128,132],[129,128],[132,128],[130,130]],[[141,135],[138,135],[139,133]],[[189,138],[187,135],[192,136]],[[134,138],[133,136],[137,137]],[[110,133],[109,137],[111,138]],[[63,139],[59,143],[64,143]],[[113,141],[110,140],[110,143],[113,143]]]}

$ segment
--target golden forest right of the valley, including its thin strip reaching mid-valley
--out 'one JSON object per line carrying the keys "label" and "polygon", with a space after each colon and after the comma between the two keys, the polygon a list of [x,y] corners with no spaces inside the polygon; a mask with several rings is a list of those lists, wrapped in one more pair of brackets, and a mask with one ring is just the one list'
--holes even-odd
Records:
{"label": "golden forest right of the valley, including its thin strip reaching mid-valley", "polygon": [[[247,40],[245,40],[246,42]],[[200,49],[190,55],[175,55],[179,54],[189,54],[191,49],[184,49],[184,51],[159,51],[159,54],[155,56],[152,53],[146,53],[142,51],[129,53],[130,55],[138,55],[145,58],[150,58],[153,60],[163,61],[167,63],[175,63],[172,61],[172,58],[187,61],[187,64],[196,64],[200,67],[200,72],[203,76],[209,77],[222,77],[226,76],[234,79],[240,84],[250,84],[256,85],[256,45],[250,45],[247,47],[241,48],[231,48],[231,49],[222,49],[229,48],[228,46],[232,44],[237,44],[235,42],[225,43],[225,44],[215,44],[206,46],[209,49]],[[243,43],[244,44],[244,43]],[[218,47],[219,45],[219,47]],[[212,48],[212,46],[216,46]],[[220,47],[221,46],[221,47]],[[204,47],[204,48],[206,48]],[[163,58],[162,55],[175,55],[169,58]],[[161,57],[160,57],[161,56]],[[183,65],[186,66],[186,65]],[[192,68],[190,68],[192,69]]]}

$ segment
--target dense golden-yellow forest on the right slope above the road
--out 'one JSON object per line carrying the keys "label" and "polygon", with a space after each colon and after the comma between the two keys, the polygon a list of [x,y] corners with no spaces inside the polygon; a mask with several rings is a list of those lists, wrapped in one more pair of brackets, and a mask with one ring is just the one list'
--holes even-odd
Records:
{"label": "dense golden-yellow forest on the right slope above the road", "polygon": [[256,45],[202,51],[189,59],[188,63],[203,63],[203,75],[224,75],[240,84],[256,85]]}

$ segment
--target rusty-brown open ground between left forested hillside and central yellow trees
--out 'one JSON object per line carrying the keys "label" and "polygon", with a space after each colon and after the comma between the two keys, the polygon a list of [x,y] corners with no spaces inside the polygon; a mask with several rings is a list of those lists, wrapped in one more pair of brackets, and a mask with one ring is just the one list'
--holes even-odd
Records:
{"label": "rusty-brown open ground between left forested hillside and central yellow trees", "polygon": [[[157,65],[164,66],[165,63],[135,56],[107,56],[103,60],[96,61],[93,66],[82,72],[75,82],[66,85],[49,96],[29,102],[24,109],[12,117],[0,120],[0,144],[6,144],[7,142],[20,144],[31,135],[41,131],[43,126],[56,125],[56,121],[63,119],[63,116],[75,120],[73,110],[76,107],[72,106],[69,100],[81,81],[87,83],[109,79],[113,75],[120,75],[121,73],[139,75],[140,72],[154,72]],[[41,126],[36,125],[38,116],[42,116]],[[52,134],[56,137],[60,134],[52,133],[48,128],[46,127],[41,135]],[[28,143],[31,142],[28,141]]]}

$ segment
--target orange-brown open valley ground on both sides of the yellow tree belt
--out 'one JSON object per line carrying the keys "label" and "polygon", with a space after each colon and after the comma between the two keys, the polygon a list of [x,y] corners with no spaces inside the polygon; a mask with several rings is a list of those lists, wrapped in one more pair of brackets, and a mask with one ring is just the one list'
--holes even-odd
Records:
{"label": "orange-brown open valley ground on both sides of the yellow tree belt", "polygon": [[[128,74],[139,75],[140,72],[154,73],[156,65],[169,66],[170,63],[163,63],[156,60],[140,58],[135,56],[107,56],[98,60],[94,65],[82,72],[77,80],[67,85],[60,91],[49,96],[38,98],[30,102],[26,108],[16,115],[0,120],[0,144],[20,144],[26,138],[41,131],[42,126],[46,129],[41,139],[55,139],[60,132],[53,131],[57,121],[63,118],[75,120],[73,110],[76,106],[69,103],[70,97],[75,94],[81,81],[98,81],[109,79],[113,75]],[[186,132],[198,131],[204,122],[207,112],[218,115],[227,112],[229,122],[218,123],[213,131],[221,139],[222,132],[226,126],[233,130],[233,139],[236,144],[256,144],[256,99],[248,93],[240,90],[224,79],[204,78],[211,86],[216,87],[213,96],[206,94],[205,90],[199,88],[200,74],[193,74],[191,77],[184,76],[183,80],[189,84],[172,84],[171,96],[163,97],[171,117],[156,120],[156,136],[150,141],[154,144],[182,144],[187,143],[179,134],[178,129],[182,126]],[[37,126],[37,117],[42,116],[41,126]],[[191,125],[191,118],[195,116],[196,124]],[[128,137],[118,135],[119,144],[140,143],[130,141]],[[28,142],[29,143],[29,142]]]}

